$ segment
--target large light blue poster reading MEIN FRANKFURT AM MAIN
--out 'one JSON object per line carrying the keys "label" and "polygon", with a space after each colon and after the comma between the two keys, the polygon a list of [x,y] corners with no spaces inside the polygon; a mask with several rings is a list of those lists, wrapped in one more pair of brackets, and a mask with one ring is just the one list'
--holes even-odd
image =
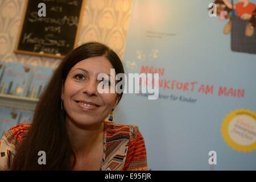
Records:
{"label": "large light blue poster reading MEIN FRANKFURT AM MAIN", "polygon": [[159,98],[125,94],[114,121],[139,126],[151,170],[256,169],[256,55],[232,51],[212,2],[133,1],[123,63],[159,73]]}

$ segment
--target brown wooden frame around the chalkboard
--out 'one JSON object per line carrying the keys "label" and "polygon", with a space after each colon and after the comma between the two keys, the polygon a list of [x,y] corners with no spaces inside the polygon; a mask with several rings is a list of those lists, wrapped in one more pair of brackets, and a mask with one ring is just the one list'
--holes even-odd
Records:
{"label": "brown wooden frame around the chalkboard", "polygon": [[[25,2],[25,7],[24,7],[24,10],[23,10],[23,13],[22,13],[22,21],[21,21],[21,24],[20,24],[20,27],[19,27],[18,39],[16,41],[14,53],[18,53],[18,54],[22,54],[22,55],[51,57],[51,58],[54,58],[54,59],[63,59],[65,57],[65,55],[60,55],[60,54],[54,55],[54,54],[51,54],[51,53],[39,53],[39,52],[24,51],[24,50],[18,49],[20,39],[21,39],[21,36],[22,36],[22,30],[23,30],[23,27],[24,27],[24,23],[26,21],[25,16],[26,16],[26,13],[27,13],[28,3],[30,1],[33,1],[33,0],[25,0],[25,1],[26,1]],[[77,26],[76,35],[75,35],[75,43],[73,45],[73,48],[76,48],[77,46],[79,46],[77,44],[77,42],[78,42],[78,39],[79,39],[80,30],[81,30],[81,26],[82,26],[82,18],[83,18],[83,15],[84,15],[84,7],[85,7],[85,1],[86,0],[81,0],[81,1],[82,1],[82,7],[81,7],[81,10],[80,10],[79,24]]]}

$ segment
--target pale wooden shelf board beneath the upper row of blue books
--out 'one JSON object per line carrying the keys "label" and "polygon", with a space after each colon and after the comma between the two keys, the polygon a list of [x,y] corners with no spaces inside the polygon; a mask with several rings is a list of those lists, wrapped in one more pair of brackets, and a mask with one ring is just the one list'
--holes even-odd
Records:
{"label": "pale wooden shelf board beneath the upper row of blue books", "polygon": [[0,94],[0,106],[19,110],[34,110],[38,98],[20,97],[9,94]]}

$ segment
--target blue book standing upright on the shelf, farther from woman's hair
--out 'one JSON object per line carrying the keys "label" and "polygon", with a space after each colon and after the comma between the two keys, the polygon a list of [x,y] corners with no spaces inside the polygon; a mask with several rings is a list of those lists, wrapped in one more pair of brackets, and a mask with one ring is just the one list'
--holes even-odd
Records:
{"label": "blue book standing upright on the shelf, farther from woman's hair", "polygon": [[32,65],[9,62],[0,82],[0,93],[26,96]]}

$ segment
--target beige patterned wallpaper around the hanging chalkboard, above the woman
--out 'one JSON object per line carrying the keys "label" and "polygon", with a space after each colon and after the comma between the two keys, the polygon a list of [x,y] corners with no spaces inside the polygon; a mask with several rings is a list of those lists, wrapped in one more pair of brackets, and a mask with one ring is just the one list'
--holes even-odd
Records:
{"label": "beige patterned wallpaper around the hanging chalkboard, above the woman", "polygon": [[[132,0],[85,0],[78,44],[102,42],[123,58]],[[0,0],[0,60],[56,67],[59,59],[14,53],[24,0]]]}

